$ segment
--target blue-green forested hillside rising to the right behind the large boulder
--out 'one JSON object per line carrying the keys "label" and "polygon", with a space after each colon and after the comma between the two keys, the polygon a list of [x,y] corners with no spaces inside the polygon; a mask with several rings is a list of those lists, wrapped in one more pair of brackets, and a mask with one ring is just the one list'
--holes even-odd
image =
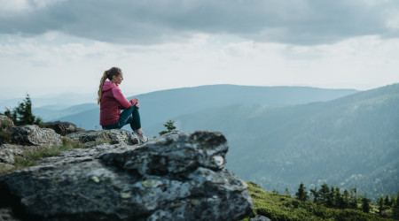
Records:
{"label": "blue-green forested hillside rising to the right behind the large boulder", "polygon": [[184,131],[222,131],[227,168],[267,189],[303,181],[356,186],[374,198],[399,192],[399,84],[325,103],[231,105],[175,120]]}

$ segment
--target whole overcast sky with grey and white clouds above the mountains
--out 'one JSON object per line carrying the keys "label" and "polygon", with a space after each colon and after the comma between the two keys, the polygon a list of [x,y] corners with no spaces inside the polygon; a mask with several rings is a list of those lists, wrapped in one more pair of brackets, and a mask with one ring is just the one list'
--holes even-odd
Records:
{"label": "whole overcast sky with grey and white clouds above the mountains", "polygon": [[0,99],[399,82],[397,0],[0,0]]}

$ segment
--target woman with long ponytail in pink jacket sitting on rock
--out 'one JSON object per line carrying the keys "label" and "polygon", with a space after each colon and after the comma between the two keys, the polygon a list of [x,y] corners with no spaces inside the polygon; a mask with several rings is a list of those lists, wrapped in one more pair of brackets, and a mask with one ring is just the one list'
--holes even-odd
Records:
{"label": "woman with long ponytail in pink jacket sitting on rock", "polygon": [[104,130],[110,130],[121,129],[122,126],[130,124],[140,141],[148,141],[141,129],[137,98],[128,101],[122,95],[121,88],[118,87],[122,80],[123,73],[118,67],[112,67],[104,72],[100,80],[97,102],[100,104],[100,125]]}

